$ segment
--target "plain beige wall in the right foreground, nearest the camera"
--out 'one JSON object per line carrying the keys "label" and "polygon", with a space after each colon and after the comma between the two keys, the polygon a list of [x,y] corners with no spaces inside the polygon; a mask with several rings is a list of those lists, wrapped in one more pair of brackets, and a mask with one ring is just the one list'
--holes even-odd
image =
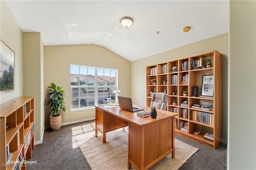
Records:
{"label": "plain beige wall in the right foreground, nearest the camera", "polygon": [[227,169],[256,169],[256,1],[230,1]]}

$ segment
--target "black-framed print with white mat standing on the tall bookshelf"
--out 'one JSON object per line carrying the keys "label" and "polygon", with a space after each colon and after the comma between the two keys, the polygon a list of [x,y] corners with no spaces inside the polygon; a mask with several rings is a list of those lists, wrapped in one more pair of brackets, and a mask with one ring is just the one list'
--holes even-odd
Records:
{"label": "black-framed print with white mat standing on the tall bookshelf", "polygon": [[202,80],[202,96],[213,97],[214,76],[204,75]]}

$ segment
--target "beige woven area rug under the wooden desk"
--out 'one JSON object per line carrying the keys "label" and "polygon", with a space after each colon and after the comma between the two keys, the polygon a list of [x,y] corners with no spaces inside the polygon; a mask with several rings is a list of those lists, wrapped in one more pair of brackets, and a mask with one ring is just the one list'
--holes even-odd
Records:
{"label": "beige woven area rug under the wooden desk", "polygon": [[[84,137],[84,140],[79,140],[78,145],[92,170],[127,170],[127,130],[108,132],[106,143],[102,143],[100,133],[98,137],[94,137],[94,132],[84,133]],[[197,150],[198,148],[175,139],[175,158],[170,153],[150,170],[178,170]],[[132,169],[135,168],[132,166]]]}

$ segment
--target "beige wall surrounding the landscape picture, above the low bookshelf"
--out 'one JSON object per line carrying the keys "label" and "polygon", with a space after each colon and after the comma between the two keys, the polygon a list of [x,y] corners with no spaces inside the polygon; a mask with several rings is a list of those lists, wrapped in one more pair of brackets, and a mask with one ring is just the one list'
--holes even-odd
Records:
{"label": "beige wall surrounding the landscape picture, above the low bookshelf", "polygon": [[0,93],[0,104],[23,96],[22,31],[5,1],[0,1],[0,39],[15,53],[14,90]]}

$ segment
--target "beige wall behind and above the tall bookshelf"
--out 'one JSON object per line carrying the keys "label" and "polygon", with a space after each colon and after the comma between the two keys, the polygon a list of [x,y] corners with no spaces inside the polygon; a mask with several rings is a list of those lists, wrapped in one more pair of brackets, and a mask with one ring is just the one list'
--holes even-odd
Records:
{"label": "beige wall behind and above the tall bookshelf", "polygon": [[228,33],[152,55],[131,63],[131,96],[135,104],[146,106],[146,66],[182,59],[210,51],[222,53],[222,142],[228,139]]}

